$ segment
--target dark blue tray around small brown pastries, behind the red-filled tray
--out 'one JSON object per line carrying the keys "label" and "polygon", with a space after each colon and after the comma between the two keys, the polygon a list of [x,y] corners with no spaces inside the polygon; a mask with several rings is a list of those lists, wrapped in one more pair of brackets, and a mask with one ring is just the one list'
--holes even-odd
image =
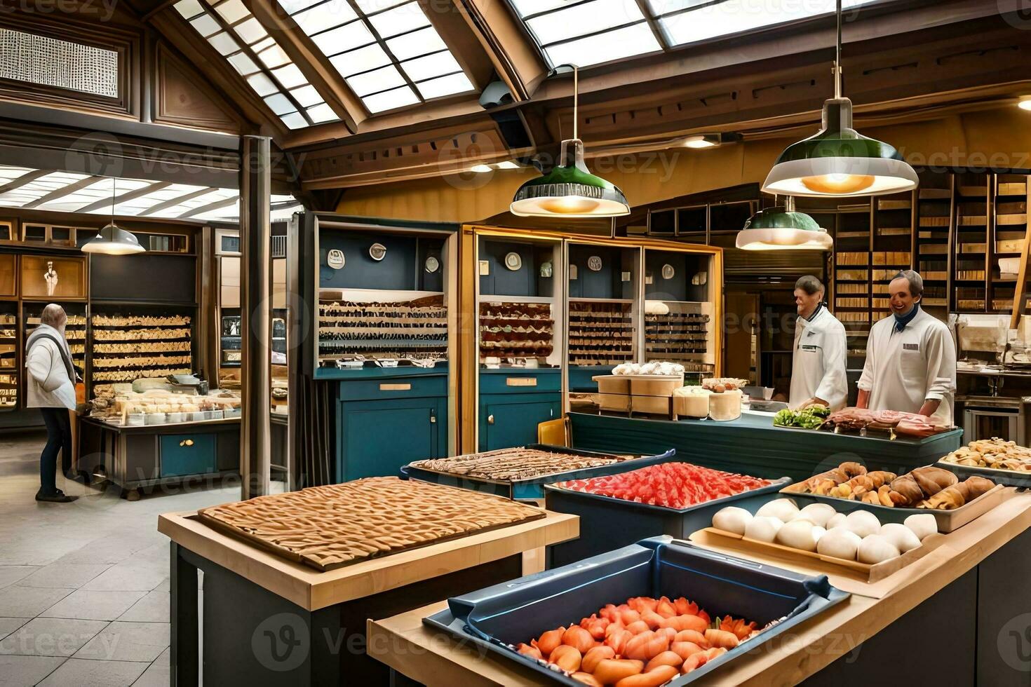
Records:
{"label": "dark blue tray around small brown pastries, behind the red-filled tray", "polygon": [[[552,446],[550,444],[527,444],[526,448],[551,451],[553,453],[568,453],[569,455],[587,455],[602,458],[611,458],[617,455],[627,455],[626,453],[599,453],[597,451],[586,451],[578,448],[569,448],[567,446]],[[489,480],[480,477],[469,477],[468,475],[456,475],[454,473],[441,473],[433,470],[424,470],[422,468],[408,465],[401,468],[401,479],[418,479],[424,482],[433,482],[434,484],[457,486],[471,491],[493,493],[517,501],[527,501],[532,499],[543,499],[545,484],[625,473],[631,470],[637,470],[638,468],[646,468],[660,462],[667,462],[672,460],[675,455],[676,451],[669,449],[665,453],[659,453],[658,455],[645,455],[632,460],[622,460],[620,462],[600,466],[598,468],[584,468],[583,470],[571,470],[564,473],[552,473],[550,475],[542,475],[540,477],[518,481]]]}

